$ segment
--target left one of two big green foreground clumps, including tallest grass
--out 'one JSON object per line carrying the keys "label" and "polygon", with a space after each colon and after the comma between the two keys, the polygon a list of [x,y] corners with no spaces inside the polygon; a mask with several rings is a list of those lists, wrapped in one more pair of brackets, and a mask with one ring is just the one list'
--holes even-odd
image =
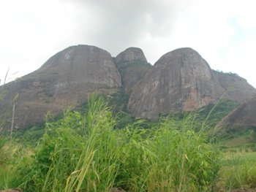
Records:
{"label": "left one of two big green foreground clumps, including tallest grass", "polygon": [[114,120],[101,97],[89,101],[86,115],[67,112],[47,126],[23,184],[26,191],[104,191],[113,185]]}

